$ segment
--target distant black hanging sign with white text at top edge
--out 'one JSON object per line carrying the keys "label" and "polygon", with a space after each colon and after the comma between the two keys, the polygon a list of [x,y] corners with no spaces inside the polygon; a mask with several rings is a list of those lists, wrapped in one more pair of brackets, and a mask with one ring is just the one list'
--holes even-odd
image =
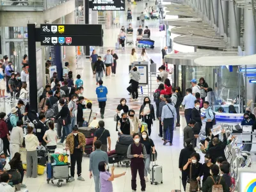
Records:
{"label": "distant black hanging sign with white text at top edge", "polygon": [[93,11],[125,11],[125,0],[93,0]]}

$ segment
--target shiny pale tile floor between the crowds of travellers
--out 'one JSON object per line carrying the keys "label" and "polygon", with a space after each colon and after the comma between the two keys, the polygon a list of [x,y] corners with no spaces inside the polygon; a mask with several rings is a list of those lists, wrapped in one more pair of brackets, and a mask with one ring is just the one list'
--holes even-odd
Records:
{"label": "shiny pale tile floor between the crowds of travellers", "polygon": [[[148,1],[147,1],[148,2]],[[139,13],[144,9],[146,1],[140,1],[137,5],[131,5],[132,10],[132,26],[134,31],[138,28],[138,22],[136,17]],[[154,1],[148,2],[148,6],[154,5]],[[126,17],[126,13],[125,13]],[[124,17],[123,17],[124,18]],[[148,54],[152,58],[152,60],[157,63],[157,68],[161,65],[161,49],[164,47],[165,36],[164,32],[161,33],[158,30],[158,20],[150,20],[145,23],[148,28],[151,30],[151,38],[155,40],[155,49],[149,50]],[[125,28],[128,26],[128,23],[125,19],[121,20],[121,26],[124,25]],[[115,49],[115,42],[117,38],[118,31],[120,31],[120,27],[113,26],[108,29],[104,29],[104,47],[95,47],[98,54],[103,56],[106,54],[107,49]],[[134,35],[134,40],[136,35]],[[118,54],[119,59],[117,60],[117,72],[115,77],[111,77],[106,79],[104,77],[104,85],[108,87],[108,101],[106,106],[106,115],[104,118],[104,122],[106,124],[106,129],[110,131],[111,134],[111,149],[115,149],[115,144],[117,140],[117,132],[115,131],[115,122],[113,121],[113,115],[115,114],[116,106],[119,104],[120,99],[122,97],[129,100],[129,95],[127,94],[127,86],[129,86],[129,74],[128,74],[128,65],[130,62],[130,54],[132,47],[135,45],[127,45],[125,50],[115,50],[116,54]],[[141,49],[136,49],[138,54],[141,52]],[[76,67],[73,67],[76,68]],[[79,58],[77,70],[74,69],[76,74],[81,74],[81,77],[84,81],[84,97],[93,100],[93,109],[99,111],[97,104],[97,96],[95,94],[95,88],[97,85],[95,84],[95,79],[93,78],[90,62],[85,60],[84,58]],[[155,90],[154,85],[156,85],[156,76],[152,77],[152,90]],[[152,90],[149,93],[152,93]],[[143,90],[146,94],[147,87]],[[152,95],[152,94],[151,94]],[[136,102],[129,102],[128,106],[131,109],[135,109],[138,115],[138,110],[142,104],[142,98]],[[180,188],[180,179],[179,176],[180,171],[178,168],[179,161],[179,153],[182,148],[182,127],[184,127],[184,118],[181,121],[181,127],[177,129],[174,133],[173,137],[173,146],[169,145],[163,146],[163,141],[157,134],[159,134],[159,121],[154,122],[154,127],[152,129],[152,140],[156,145],[156,150],[158,152],[158,161],[157,164],[161,164],[163,166],[163,184],[159,184],[157,186],[152,186],[147,182],[146,191],[150,192],[160,192],[160,191],[171,191],[172,189]],[[58,188],[55,184],[47,184],[46,182],[46,174],[40,175],[36,179],[24,179],[24,184],[28,186],[29,191],[33,192],[43,192],[43,191],[68,191],[68,192],[78,192],[78,191],[86,191],[92,192],[94,191],[94,182],[93,179],[89,179],[89,157],[83,157],[82,164],[83,172],[82,176],[85,181],[81,182],[76,180],[75,182],[66,184],[63,183],[61,188]],[[114,191],[122,191],[128,192],[131,191],[131,171],[130,168],[125,168],[125,166],[116,167],[115,173],[122,173],[127,170],[127,174],[124,177],[120,177],[113,181],[113,189]],[[138,183],[138,191],[140,191],[140,180]]]}

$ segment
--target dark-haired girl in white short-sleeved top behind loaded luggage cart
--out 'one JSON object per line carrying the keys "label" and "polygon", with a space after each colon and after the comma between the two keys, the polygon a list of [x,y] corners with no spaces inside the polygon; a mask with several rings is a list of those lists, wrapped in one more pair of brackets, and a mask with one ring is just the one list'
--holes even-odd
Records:
{"label": "dark-haired girl in white short-sleeved top behind loaded luggage cart", "polygon": [[45,131],[43,140],[47,143],[49,150],[54,150],[57,147],[57,132],[54,130],[54,122],[49,122],[49,130]]}

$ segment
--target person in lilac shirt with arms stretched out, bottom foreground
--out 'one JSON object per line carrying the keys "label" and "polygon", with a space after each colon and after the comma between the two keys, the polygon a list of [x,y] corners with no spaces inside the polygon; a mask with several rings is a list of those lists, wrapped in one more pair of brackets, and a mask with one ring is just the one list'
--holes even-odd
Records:
{"label": "person in lilac shirt with arms stretched out, bottom foreground", "polygon": [[113,192],[113,184],[112,181],[118,177],[122,177],[126,174],[126,172],[121,174],[114,174],[115,166],[113,165],[111,168],[111,173],[108,171],[108,165],[105,161],[101,161],[99,163],[99,171],[100,171],[100,191],[101,192]]}

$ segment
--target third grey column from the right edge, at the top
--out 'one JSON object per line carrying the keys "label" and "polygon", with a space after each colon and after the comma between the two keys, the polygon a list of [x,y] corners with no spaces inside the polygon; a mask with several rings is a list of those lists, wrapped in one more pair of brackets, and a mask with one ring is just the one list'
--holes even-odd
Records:
{"label": "third grey column from the right edge, at the top", "polygon": [[228,1],[219,0],[219,33],[220,36],[228,33]]}

